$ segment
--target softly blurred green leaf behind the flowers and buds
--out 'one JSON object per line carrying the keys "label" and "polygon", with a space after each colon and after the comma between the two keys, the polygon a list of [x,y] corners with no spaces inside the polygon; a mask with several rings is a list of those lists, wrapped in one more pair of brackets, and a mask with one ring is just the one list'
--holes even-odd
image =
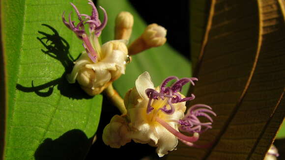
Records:
{"label": "softly blurred green leaf behind the flowers and buds", "polygon": [[[108,13],[108,24],[101,34],[103,43],[114,39],[115,17],[121,11],[128,11],[134,16],[134,27],[130,43],[142,34],[146,24],[128,0],[99,0],[98,3]],[[132,62],[126,66],[126,74],[114,82],[114,87],[121,96],[124,96],[129,89],[134,87],[135,80],[144,71],[150,73],[155,86],[160,85],[162,80],[168,76],[183,78],[192,75],[190,62],[174,51],[168,44],[149,49],[132,56],[132,58]],[[188,87],[189,85],[184,87],[184,94],[187,93],[186,88]]]}

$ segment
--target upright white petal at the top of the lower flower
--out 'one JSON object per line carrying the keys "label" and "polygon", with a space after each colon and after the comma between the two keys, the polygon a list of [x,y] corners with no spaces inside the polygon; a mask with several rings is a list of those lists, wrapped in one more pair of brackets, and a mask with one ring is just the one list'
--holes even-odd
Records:
{"label": "upright white petal at the top of the lower flower", "polygon": [[154,85],[148,72],[143,72],[143,74],[138,77],[136,80],[136,88],[142,98],[148,99],[145,90],[148,88],[154,89]]}

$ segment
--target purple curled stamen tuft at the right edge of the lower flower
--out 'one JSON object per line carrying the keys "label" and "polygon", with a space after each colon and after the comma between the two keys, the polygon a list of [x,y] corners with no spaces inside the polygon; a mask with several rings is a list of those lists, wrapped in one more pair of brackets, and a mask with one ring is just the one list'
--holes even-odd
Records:
{"label": "purple curled stamen tuft at the right edge of the lower flower", "polygon": [[[211,122],[213,122],[213,119],[207,113],[211,113],[216,116],[216,113],[213,112],[211,109],[211,107],[202,104],[197,104],[190,107],[187,111],[187,114],[185,114],[185,116],[178,121],[178,123],[181,125],[179,127],[179,130],[189,133],[203,133],[206,130],[211,129]],[[198,116],[206,117],[211,122],[201,123],[198,119]]]}

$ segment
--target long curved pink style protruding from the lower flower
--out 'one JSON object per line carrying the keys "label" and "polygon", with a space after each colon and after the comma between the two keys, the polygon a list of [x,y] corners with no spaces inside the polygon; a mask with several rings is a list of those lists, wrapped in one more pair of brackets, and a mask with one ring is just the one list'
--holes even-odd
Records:
{"label": "long curved pink style protruding from the lower flower", "polygon": [[169,132],[174,134],[179,139],[182,139],[182,140],[187,141],[187,142],[196,142],[199,139],[199,133],[194,133],[193,136],[187,136],[187,135],[184,135],[184,134],[176,131],[167,122],[165,122],[164,120],[162,120],[159,117],[156,117],[156,121],[159,124],[161,124],[165,129],[167,129]]}

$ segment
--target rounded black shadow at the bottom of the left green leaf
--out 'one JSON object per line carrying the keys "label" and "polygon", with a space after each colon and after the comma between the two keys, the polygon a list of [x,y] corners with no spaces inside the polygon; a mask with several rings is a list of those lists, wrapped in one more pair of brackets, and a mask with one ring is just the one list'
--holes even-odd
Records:
{"label": "rounded black shadow at the bottom of the left green leaf", "polygon": [[46,138],[34,153],[35,160],[84,160],[93,137],[78,129],[70,130],[55,140]]}

